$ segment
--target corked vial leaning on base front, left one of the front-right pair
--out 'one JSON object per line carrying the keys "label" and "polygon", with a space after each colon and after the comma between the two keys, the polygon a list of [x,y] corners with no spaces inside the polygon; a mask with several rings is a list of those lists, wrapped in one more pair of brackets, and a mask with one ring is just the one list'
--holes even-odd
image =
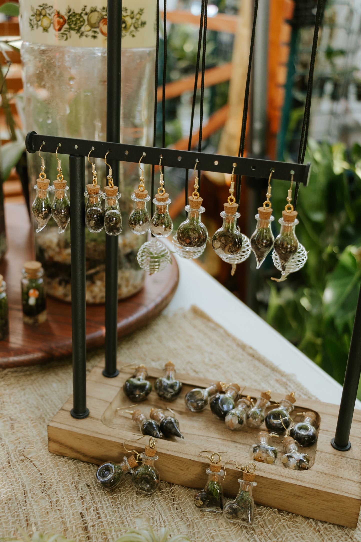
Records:
{"label": "corked vial leaning on base front, left one of the front-right pair", "polygon": [[222,512],[223,488],[220,482],[224,470],[219,463],[209,463],[206,470],[208,480],[205,488],[194,495],[194,504],[202,512]]}

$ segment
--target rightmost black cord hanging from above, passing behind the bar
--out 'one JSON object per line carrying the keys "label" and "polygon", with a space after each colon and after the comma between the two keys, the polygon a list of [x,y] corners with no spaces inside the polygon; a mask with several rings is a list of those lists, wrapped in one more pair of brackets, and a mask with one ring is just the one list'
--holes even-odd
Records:
{"label": "rightmost black cord hanging from above, passing behind the bar", "polygon": [[[309,81],[307,82],[305,113],[304,113],[302,130],[301,130],[300,146],[299,146],[299,150],[298,150],[298,159],[297,159],[298,164],[303,164],[304,163],[306,149],[307,149],[307,137],[309,135],[310,113],[311,113],[313,72],[314,72],[314,63],[316,61],[318,31],[319,31],[319,27],[320,27],[322,12],[323,12],[323,0],[318,0],[318,2],[317,2],[317,11],[316,11],[316,20],[314,22],[313,42],[312,42],[310,71],[309,71]],[[297,205],[297,196],[298,196],[299,185],[300,185],[300,183],[296,182],[296,188],[294,189],[293,208],[295,210],[296,210],[296,205]]]}

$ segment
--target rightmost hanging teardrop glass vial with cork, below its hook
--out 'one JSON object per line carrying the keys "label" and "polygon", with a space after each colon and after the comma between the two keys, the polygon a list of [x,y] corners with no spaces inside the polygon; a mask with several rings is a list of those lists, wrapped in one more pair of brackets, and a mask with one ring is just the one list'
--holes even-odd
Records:
{"label": "rightmost hanging teardrop glass vial with cork, below its hook", "polygon": [[280,233],[275,238],[273,248],[279,257],[281,264],[281,274],[286,273],[287,263],[292,256],[297,253],[298,239],[294,229],[298,224],[297,211],[282,211],[282,218],[279,219],[281,225]]}

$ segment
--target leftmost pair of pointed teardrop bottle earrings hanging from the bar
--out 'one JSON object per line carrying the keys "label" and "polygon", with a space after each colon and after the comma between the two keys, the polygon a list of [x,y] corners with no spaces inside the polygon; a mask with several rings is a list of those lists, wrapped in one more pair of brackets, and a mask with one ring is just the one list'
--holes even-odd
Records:
{"label": "leftmost pair of pointed teardrop bottle earrings hanging from the bar", "polygon": [[[65,228],[70,221],[70,203],[67,196],[67,191],[69,186],[67,186],[67,181],[64,180],[61,160],[58,159],[57,151],[55,151],[55,156],[58,162],[57,166],[57,177],[54,180],[54,185],[49,186],[50,181],[47,179],[45,173],[45,161],[41,156],[41,145],[39,150],[39,156],[41,158],[41,173],[37,179],[37,184],[35,185],[36,197],[34,203],[31,206],[31,212],[34,216],[36,223],[38,225],[36,233],[39,233],[45,226],[48,224],[50,217],[52,216],[58,225],[58,233],[61,234],[65,231]],[[54,201],[50,203],[49,192],[54,190]]]}

